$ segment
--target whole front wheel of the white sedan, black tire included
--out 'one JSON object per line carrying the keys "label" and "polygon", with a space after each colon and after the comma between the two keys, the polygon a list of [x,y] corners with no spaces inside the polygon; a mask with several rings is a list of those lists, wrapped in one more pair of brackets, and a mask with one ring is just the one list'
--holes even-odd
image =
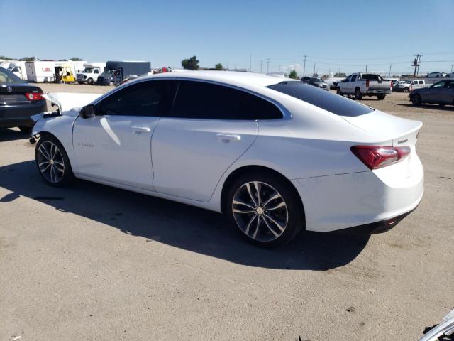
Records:
{"label": "whole front wheel of the white sedan, black tire included", "polygon": [[[55,152],[53,156],[51,156],[49,153],[49,151],[52,151],[52,144],[57,147],[57,152],[55,152],[55,149],[53,150]],[[41,149],[41,146],[43,146],[44,150]],[[51,148],[49,148],[49,146]],[[48,153],[46,153],[46,151]],[[62,144],[60,144],[60,141],[58,141],[52,135],[44,135],[39,139],[38,144],[36,144],[35,148],[35,162],[36,168],[38,168],[38,173],[40,173],[41,177],[48,185],[54,187],[65,187],[66,185],[72,183],[75,179],[74,173],[72,173],[70,159],[67,156],[65,148],[62,146]],[[46,168],[45,171],[42,171],[45,166],[48,166],[48,168]],[[53,173],[52,168],[55,169]],[[63,169],[63,171],[61,171],[61,169]],[[50,173],[53,174],[53,177]],[[52,181],[52,179],[54,179],[55,181]]]}

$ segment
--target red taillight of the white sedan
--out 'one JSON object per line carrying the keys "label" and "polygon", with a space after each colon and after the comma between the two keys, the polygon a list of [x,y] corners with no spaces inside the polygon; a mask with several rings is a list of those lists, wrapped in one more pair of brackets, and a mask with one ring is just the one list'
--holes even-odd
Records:
{"label": "red taillight of the white sedan", "polygon": [[398,163],[410,153],[410,147],[352,146],[350,150],[370,169]]}

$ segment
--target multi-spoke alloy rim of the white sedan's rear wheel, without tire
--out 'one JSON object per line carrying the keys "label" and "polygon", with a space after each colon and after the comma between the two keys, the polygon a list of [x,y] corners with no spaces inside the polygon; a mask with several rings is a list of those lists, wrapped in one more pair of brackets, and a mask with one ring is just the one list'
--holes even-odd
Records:
{"label": "multi-spoke alloy rim of the white sedan's rear wheel, without tire", "polygon": [[241,231],[258,242],[279,238],[289,220],[284,197],[271,185],[260,181],[245,183],[236,190],[232,212]]}

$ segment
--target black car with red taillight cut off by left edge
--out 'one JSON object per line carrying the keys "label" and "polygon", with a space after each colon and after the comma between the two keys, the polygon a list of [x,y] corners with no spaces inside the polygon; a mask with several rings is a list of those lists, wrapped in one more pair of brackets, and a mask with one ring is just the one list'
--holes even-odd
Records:
{"label": "black car with red taillight cut off by left edge", "polygon": [[24,133],[33,128],[31,116],[47,111],[43,90],[0,67],[0,128],[18,126]]}

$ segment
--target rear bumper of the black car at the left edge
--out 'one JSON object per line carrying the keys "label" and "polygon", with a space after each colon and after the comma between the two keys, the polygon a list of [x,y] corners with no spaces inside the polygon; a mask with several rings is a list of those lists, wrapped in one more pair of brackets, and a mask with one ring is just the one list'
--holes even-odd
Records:
{"label": "rear bumper of the black car at the left edge", "polygon": [[0,106],[0,127],[33,126],[31,116],[46,111],[45,100],[31,104]]}

